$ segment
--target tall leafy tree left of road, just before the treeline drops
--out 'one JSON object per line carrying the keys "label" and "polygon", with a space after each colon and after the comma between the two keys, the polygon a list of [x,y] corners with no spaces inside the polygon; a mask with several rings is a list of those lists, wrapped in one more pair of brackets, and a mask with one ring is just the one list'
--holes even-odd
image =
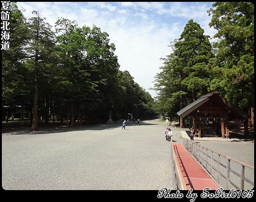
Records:
{"label": "tall leafy tree left of road, just before the treeline drops", "polygon": [[[98,83],[99,99],[101,101],[98,106],[100,117],[106,117],[106,114],[113,110],[115,105],[115,91],[117,89],[117,74],[119,64],[115,44],[110,43],[107,32],[101,32],[99,27],[95,25],[91,29],[88,41],[92,42],[94,48],[90,49],[89,60],[98,70],[97,74],[93,74],[94,80],[100,80]],[[117,98],[118,99],[118,98]],[[104,119],[104,118],[103,118]]]}

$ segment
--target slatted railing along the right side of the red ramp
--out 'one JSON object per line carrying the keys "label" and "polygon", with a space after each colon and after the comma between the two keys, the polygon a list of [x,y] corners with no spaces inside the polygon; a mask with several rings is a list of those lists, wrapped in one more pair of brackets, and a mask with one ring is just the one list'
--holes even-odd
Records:
{"label": "slatted railing along the right side of the red ramp", "polygon": [[245,164],[227,155],[183,138],[184,148],[225,187],[225,190],[250,190],[254,188],[254,166]]}

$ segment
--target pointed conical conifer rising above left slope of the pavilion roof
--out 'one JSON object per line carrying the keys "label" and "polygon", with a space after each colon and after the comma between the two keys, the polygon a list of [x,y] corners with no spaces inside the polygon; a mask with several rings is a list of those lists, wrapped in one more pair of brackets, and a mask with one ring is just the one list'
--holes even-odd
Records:
{"label": "pointed conical conifer rising above left slope of the pavilion roof", "polygon": [[177,43],[175,55],[183,65],[184,79],[181,85],[192,94],[192,101],[207,92],[209,71],[207,64],[211,55],[210,36],[192,19],[184,27]]}

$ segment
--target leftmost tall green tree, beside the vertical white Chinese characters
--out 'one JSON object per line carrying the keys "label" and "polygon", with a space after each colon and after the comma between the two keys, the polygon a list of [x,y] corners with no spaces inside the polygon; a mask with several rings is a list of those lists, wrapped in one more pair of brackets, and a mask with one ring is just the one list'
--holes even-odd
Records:
{"label": "leftmost tall green tree, beside the vertical white Chinese characters", "polygon": [[[16,97],[21,94],[24,80],[22,59],[25,57],[24,48],[28,39],[26,18],[17,7],[16,2],[10,2],[10,50],[2,50],[2,106],[18,105]],[[2,20],[3,21],[3,20]],[[25,74],[24,74],[25,73]]]}

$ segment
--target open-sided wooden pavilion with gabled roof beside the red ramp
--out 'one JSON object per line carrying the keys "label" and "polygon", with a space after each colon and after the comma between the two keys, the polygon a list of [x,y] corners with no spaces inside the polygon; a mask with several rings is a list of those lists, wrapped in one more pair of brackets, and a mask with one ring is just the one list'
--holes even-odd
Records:
{"label": "open-sided wooden pavilion with gabled roof beside the red ramp", "polygon": [[181,126],[185,118],[190,117],[190,127],[194,128],[195,136],[198,137],[229,138],[228,119],[230,117],[243,120],[245,135],[249,134],[250,115],[225,100],[217,91],[201,96],[177,114],[181,118]]}

